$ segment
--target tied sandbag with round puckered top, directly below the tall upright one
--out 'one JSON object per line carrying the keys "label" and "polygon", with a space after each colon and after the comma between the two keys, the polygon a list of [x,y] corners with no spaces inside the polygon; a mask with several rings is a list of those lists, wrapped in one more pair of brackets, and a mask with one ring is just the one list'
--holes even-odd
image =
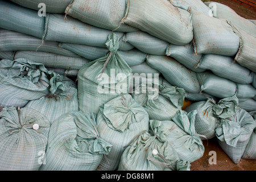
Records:
{"label": "tied sandbag with round puckered top, directly below the tall upright one", "polygon": [[118,168],[125,146],[139,133],[148,130],[146,110],[130,94],[123,94],[100,106],[97,129],[100,137],[113,145],[103,158],[98,171],[114,171]]}

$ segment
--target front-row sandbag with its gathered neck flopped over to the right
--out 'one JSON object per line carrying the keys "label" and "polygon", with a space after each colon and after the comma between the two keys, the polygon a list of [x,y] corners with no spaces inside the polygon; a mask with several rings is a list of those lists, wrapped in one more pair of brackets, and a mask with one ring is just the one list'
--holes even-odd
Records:
{"label": "front-row sandbag with its gathered neck flopped over to the right", "polygon": [[45,163],[40,171],[94,171],[112,144],[100,138],[96,114],[72,111],[49,130]]}

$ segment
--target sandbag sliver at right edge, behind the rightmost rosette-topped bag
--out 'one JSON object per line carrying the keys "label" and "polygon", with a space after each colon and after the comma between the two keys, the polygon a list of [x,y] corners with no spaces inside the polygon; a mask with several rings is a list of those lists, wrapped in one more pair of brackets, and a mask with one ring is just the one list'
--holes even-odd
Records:
{"label": "sandbag sliver at right edge, behind the rightmost rosette-topped bag", "polygon": [[249,114],[254,119],[254,130],[251,134],[250,140],[245,148],[245,152],[243,152],[242,159],[256,159],[256,111],[251,111]]}

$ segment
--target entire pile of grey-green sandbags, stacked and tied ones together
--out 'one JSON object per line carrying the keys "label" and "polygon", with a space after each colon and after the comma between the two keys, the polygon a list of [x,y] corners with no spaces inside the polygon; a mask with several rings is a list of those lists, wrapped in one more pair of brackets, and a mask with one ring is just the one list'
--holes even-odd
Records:
{"label": "entire pile of grey-green sandbags, stacked and tied ones together", "polygon": [[214,137],[255,159],[255,35],[216,2],[0,1],[0,166],[184,171]]}

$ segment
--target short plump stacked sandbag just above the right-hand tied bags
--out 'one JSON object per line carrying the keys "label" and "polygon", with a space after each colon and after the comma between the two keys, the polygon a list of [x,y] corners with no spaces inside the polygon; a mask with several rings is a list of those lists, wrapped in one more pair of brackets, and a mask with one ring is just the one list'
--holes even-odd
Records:
{"label": "short plump stacked sandbag just above the right-hand tied bags", "polygon": [[200,82],[201,90],[217,98],[234,96],[237,91],[235,82],[214,75],[209,71],[197,73],[197,78]]}

